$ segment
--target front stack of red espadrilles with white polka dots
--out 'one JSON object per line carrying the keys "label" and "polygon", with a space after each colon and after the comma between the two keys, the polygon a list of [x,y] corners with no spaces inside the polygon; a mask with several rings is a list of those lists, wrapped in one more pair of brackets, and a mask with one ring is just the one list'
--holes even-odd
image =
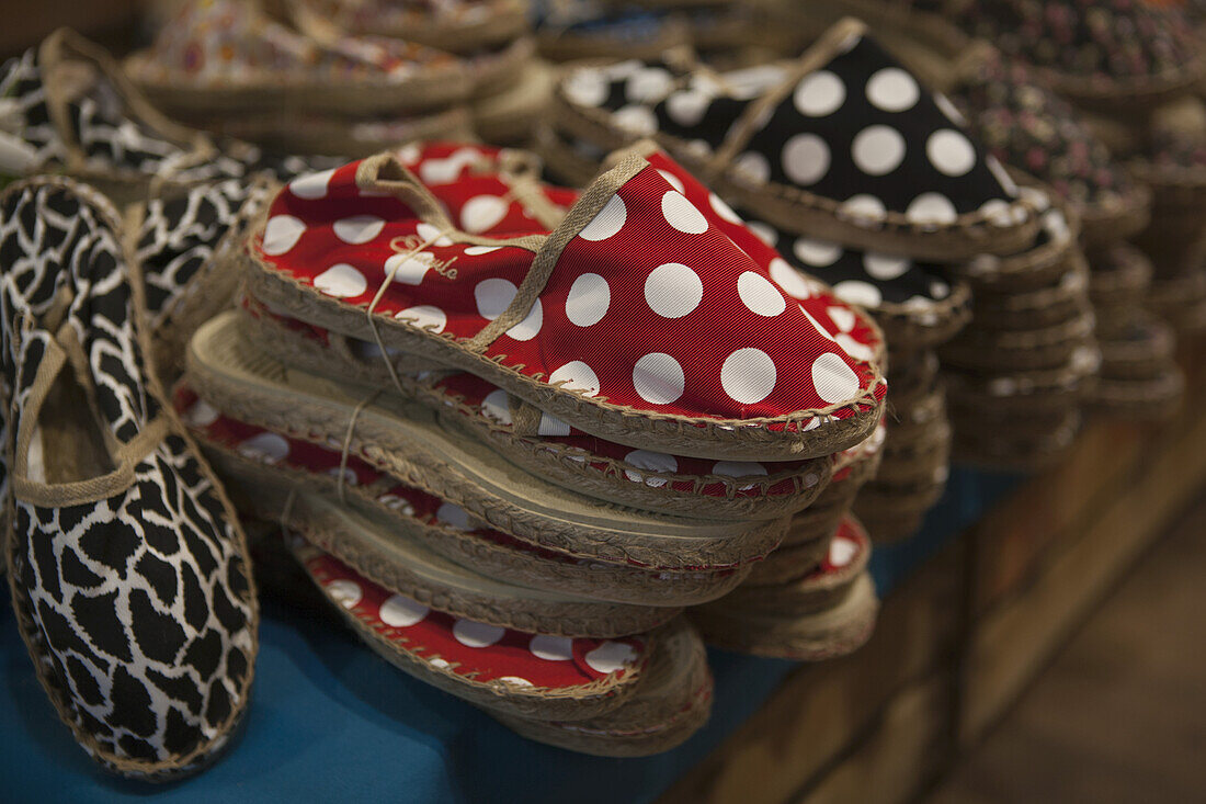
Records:
{"label": "front stack of red espadrilles with white polka dots", "polygon": [[[291,181],[175,400],[386,659],[521,734],[633,755],[707,717],[675,616],[874,443],[886,389],[861,311],[780,290],[777,252],[663,153],[616,162],[580,196],[439,144]],[[779,616],[813,658],[877,607],[859,525],[826,526]]]}

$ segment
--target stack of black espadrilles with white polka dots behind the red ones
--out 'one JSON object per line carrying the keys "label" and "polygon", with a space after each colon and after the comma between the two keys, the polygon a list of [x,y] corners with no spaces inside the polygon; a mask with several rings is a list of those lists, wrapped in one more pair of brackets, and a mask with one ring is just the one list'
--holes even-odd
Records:
{"label": "stack of black espadrilles with white polka dots behind the red ones", "polygon": [[[794,266],[872,311],[888,334],[890,381],[906,392],[892,396],[880,474],[857,511],[873,537],[912,532],[947,476],[950,429],[930,353],[967,320],[955,274],[1006,286],[1017,260],[960,262],[1040,249],[1036,238],[1050,237],[1040,227],[1060,222],[1037,209],[1044,196],[1023,197],[949,101],[854,22],[795,62],[721,74],[677,53],[570,66],[554,103],[538,142],[557,175],[581,182],[595,153],[652,135],[712,176],[780,249],[784,272]],[[1055,233],[1070,247],[1071,233]]]}

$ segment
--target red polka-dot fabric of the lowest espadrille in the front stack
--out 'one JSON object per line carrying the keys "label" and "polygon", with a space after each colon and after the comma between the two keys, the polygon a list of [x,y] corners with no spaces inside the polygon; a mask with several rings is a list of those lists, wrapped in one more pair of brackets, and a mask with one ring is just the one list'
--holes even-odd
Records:
{"label": "red polka-dot fabric of the lowest espadrille in the front stack", "polygon": [[457,618],[391,593],[338,559],[312,555],[305,569],[326,595],[399,649],[479,682],[566,689],[622,678],[645,662],[644,639],[570,639]]}

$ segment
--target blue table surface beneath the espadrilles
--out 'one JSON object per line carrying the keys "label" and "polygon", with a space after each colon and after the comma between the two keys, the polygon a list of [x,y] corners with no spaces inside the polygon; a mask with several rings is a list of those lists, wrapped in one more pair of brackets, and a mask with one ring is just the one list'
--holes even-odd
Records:
{"label": "blue table surface beneath the espadrilles", "polygon": [[[952,472],[923,530],[877,547],[880,594],[976,522],[1017,476]],[[7,600],[7,595],[2,595]],[[359,645],[322,610],[265,599],[250,715],[227,755],[168,786],[100,771],[72,741],[0,606],[0,799],[10,802],[650,802],[744,722],[796,664],[709,651],[708,726],[667,753],[587,757],[516,736]]]}

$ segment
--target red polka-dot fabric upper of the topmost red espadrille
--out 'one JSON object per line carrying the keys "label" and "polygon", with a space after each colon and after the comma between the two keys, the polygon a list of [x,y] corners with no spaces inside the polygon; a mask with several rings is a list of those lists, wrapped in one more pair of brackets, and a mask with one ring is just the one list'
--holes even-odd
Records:
{"label": "red polka-dot fabric upper of the topmost red espadrille", "polygon": [[[431,258],[397,255],[396,238],[431,241],[440,233],[396,198],[362,196],[357,164],[291,182],[252,249],[361,309],[385,280],[387,261],[400,262],[376,314],[458,339],[505,309],[532,252],[467,246],[445,233],[427,249]],[[466,229],[482,231],[491,221],[479,220],[481,210],[503,203],[476,196],[456,204],[450,194],[440,200],[459,208]],[[685,416],[778,418],[865,391],[873,369],[780,291],[718,220],[646,167],[570,240],[529,315],[487,356],[537,380]],[[880,385],[876,395],[883,394]]]}

